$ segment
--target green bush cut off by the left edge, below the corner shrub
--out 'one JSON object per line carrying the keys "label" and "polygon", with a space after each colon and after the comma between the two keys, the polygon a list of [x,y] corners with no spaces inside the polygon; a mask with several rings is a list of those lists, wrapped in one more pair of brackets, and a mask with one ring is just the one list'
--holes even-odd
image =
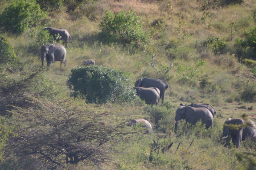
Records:
{"label": "green bush cut off by the left edge, below the corner shrub", "polygon": [[6,38],[0,35],[0,64],[15,64],[18,62],[18,57],[14,52],[14,47],[10,45]]}

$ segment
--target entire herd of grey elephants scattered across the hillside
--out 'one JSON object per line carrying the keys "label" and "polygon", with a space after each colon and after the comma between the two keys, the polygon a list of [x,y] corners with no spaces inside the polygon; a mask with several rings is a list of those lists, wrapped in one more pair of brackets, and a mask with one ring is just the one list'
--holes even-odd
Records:
{"label": "entire herd of grey elephants scattered across the hillside", "polygon": [[[48,30],[49,34],[56,37],[56,35],[60,35],[65,44],[65,47],[68,47],[68,41],[71,39],[70,34],[66,29],[56,29],[53,27],[46,27],[44,30]],[[60,40],[57,39],[57,40]],[[72,39],[71,39],[72,40]],[[73,41],[73,40],[72,40]],[[64,46],[61,44],[47,44],[42,45],[41,47],[41,60],[42,66],[44,66],[44,60],[46,59],[47,66],[50,67],[52,63],[55,61],[60,61],[66,65],[66,54],[67,51]],[[88,66],[90,64],[95,65],[95,61],[93,59],[87,59],[82,63],[84,66]],[[168,88],[168,84],[160,79],[160,78],[143,78],[139,79],[135,82],[136,95],[139,96],[142,100],[146,102],[146,104],[155,104],[157,105],[162,100],[162,104],[164,104],[164,94],[166,89]],[[206,128],[210,128],[213,126],[213,118],[216,115],[216,110],[209,104],[190,104],[188,106],[180,105],[180,108],[176,110],[175,115],[175,130],[178,128],[178,122],[181,119],[185,119],[186,122],[191,123],[192,125],[196,124],[199,120],[202,120],[202,123],[206,125]],[[152,125],[145,119],[132,119],[128,122],[128,125],[136,124],[136,123],[144,123],[143,127],[148,129],[148,133],[150,134],[152,131]],[[248,125],[249,124],[249,125]],[[232,126],[233,125],[233,126]],[[234,125],[236,127],[234,128]],[[256,140],[256,125],[255,123],[248,119],[227,119],[223,125],[223,134],[224,138],[230,135],[232,139],[232,143],[238,148],[240,146],[241,141],[246,138],[251,138]]]}

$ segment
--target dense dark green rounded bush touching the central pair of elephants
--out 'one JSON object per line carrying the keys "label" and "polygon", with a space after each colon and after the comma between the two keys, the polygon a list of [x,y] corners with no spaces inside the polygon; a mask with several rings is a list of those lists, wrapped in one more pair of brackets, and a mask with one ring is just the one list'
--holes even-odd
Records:
{"label": "dense dark green rounded bush touching the central pair of elephants", "polygon": [[68,86],[74,90],[74,96],[86,96],[90,103],[126,102],[137,98],[131,88],[130,74],[106,66],[73,68]]}

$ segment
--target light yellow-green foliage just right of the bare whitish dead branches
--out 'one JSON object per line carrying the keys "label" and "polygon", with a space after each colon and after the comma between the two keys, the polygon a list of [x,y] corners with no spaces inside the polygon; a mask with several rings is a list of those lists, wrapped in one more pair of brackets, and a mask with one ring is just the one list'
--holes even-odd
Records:
{"label": "light yellow-green foliage just right of the bare whitish dead branches", "polygon": [[197,64],[195,67],[189,67],[187,65],[178,65],[177,72],[180,75],[182,79],[192,79],[195,76],[197,76],[200,71],[198,70],[198,67],[202,66],[204,67],[205,61],[201,61],[201,59],[198,59]]}

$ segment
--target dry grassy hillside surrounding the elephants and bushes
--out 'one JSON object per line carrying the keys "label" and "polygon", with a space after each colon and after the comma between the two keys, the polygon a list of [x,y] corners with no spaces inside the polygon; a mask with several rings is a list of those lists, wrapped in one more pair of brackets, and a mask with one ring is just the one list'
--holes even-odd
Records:
{"label": "dry grassy hillside surrounding the elephants and bushes", "polygon": [[[3,4],[7,2],[0,2],[0,13],[4,11]],[[56,62],[51,68],[43,70],[46,78],[44,82],[47,82],[49,87],[51,84],[59,92],[50,97],[50,102],[70,96],[70,89],[66,84],[70,70],[81,66],[86,59],[94,59],[99,66],[131,72],[133,83],[138,78],[162,78],[169,84],[169,88],[166,90],[164,105],[158,106],[130,103],[96,105],[87,104],[84,100],[74,100],[73,102],[90,108],[92,113],[111,113],[110,117],[104,120],[106,125],[114,121],[125,122],[130,118],[144,118],[150,121],[154,128],[152,135],[135,133],[126,136],[127,139],[120,141],[113,148],[107,145],[111,148],[111,152],[107,154],[109,160],[100,166],[86,161],[74,166],[62,166],[67,169],[106,170],[256,168],[255,143],[242,141],[240,148],[234,149],[232,143],[226,145],[226,140],[221,138],[223,123],[229,117],[238,118],[246,114],[256,122],[255,71],[251,71],[253,66],[247,66],[242,61],[243,57],[255,59],[255,54],[248,52],[247,55],[240,56],[235,46],[237,38],[246,39],[246,31],[256,26],[254,0],[229,5],[228,0],[207,3],[204,0],[88,0],[75,6],[73,10],[69,8],[78,1],[64,2],[68,3],[64,3],[60,8],[44,9],[48,11],[48,19],[42,26],[32,27],[21,34],[1,29],[1,35],[8,39],[20,60],[19,66],[9,66],[14,70],[16,77],[19,72],[40,68],[40,45],[36,43],[36,30],[55,27],[68,30],[73,43],[69,43],[69,48],[66,49],[66,67],[61,67],[60,63]],[[123,11],[130,14],[135,11],[141,18],[143,30],[148,34],[150,43],[144,49],[136,49],[131,45],[102,43],[98,25],[107,9],[113,14]],[[220,50],[220,47],[209,43],[209,37],[218,37],[217,43],[225,42],[225,48]],[[151,66],[152,55],[158,73]],[[205,64],[196,67],[198,61],[205,61]],[[171,69],[170,63],[173,63]],[[165,74],[168,69],[170,71]],[[190,69],[194,71],[193,76]],[[246,100],[247,98],[249,100]],[[214,127],[206,130],[200,127],[200,123],[188,127],[182,122],[178,133],[174,133],[175,111],[180,107],[179,104],[188,105],[193,102],[214,106],[217,111]],[[158,123],[156,119],[159,120]],[[166,149],[171,143],[171,147]],[[239,161],[238,155],[242,153],[254,155]],[[12,155],[15,155],[12,160],[15,163],[8,162]],[[28,154],[26,158],[21,158],[15,153],[5,156],[0,165],[2,169],[47,167],[36,154]],[[252,158],[254,164],[248,163],[249,158]]]}

